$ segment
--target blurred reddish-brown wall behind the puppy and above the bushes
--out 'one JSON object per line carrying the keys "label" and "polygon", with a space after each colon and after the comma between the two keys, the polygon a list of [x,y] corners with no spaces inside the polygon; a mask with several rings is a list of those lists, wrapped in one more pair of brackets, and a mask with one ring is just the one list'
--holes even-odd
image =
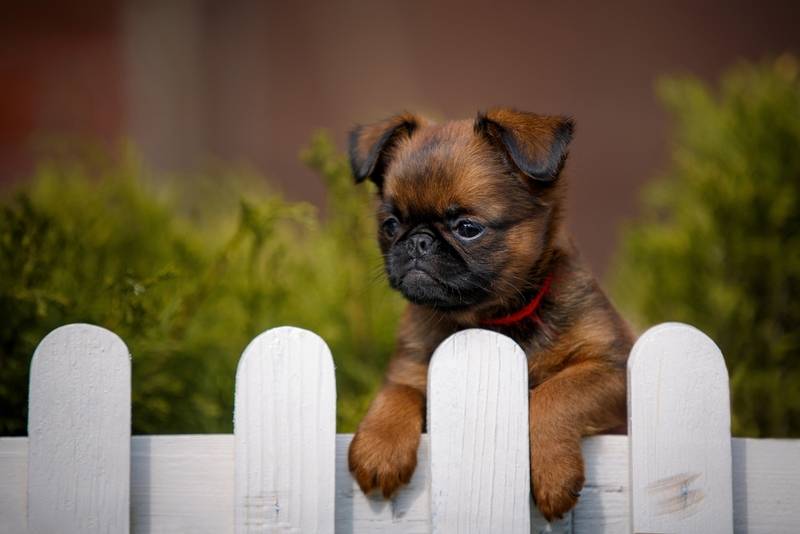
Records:
{"label": "blurred reddish-brown wall behind the puppy and above the bushes", "polygon": [[570,224],[607,267],[667,162],[659,76],[711,81],[800,49],[796,2],[33,1],[0,19],[0,180],[53,136],[130,135],[166,170],[250,165],[320,202],[297,152],[318,127],[513,105],[578,124]]}

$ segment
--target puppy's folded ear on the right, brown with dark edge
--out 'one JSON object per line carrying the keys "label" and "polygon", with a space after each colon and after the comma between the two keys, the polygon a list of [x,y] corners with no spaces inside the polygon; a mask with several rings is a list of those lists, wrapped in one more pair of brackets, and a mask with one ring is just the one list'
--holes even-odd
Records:
{"label": "puppy's folded ear on the right, brown with dark edge", "polygon": [[475,132],[503,150],[526,176],[540,182],[558,178],[567,160],[575,123],[525,111],[493,109],[478,113]]}

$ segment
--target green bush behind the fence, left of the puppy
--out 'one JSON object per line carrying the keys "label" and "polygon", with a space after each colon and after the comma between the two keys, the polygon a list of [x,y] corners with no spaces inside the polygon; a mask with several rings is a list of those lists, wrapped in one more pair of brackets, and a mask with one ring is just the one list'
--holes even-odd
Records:
{"label": "green bush behind the fence, left of the puppy", "polygon": [[323,222],[258,177],[150,176],[130,154],[62,159],[7,195],[0,435],[25,432],[30,356],[71,322],[128,344],[136,433],[230,432],[246,344],[282,324],[314,330],[336,362],[339,429],[352,431],[401,302],[380,276],[368,190],[324,134],[302,157],[329,191]]}

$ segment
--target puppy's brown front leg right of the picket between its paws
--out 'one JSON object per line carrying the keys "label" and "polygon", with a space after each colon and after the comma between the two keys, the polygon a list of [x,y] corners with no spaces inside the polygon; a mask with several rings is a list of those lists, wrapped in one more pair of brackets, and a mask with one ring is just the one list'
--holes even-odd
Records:
{"label": "puppy's brown front leg right of the picket between its paws", "polygon": [[567,367],[530,392],[531,484],[539,511],[561,518],[583,487],[581,437],[625,420],[625,373],[586,361]]}

